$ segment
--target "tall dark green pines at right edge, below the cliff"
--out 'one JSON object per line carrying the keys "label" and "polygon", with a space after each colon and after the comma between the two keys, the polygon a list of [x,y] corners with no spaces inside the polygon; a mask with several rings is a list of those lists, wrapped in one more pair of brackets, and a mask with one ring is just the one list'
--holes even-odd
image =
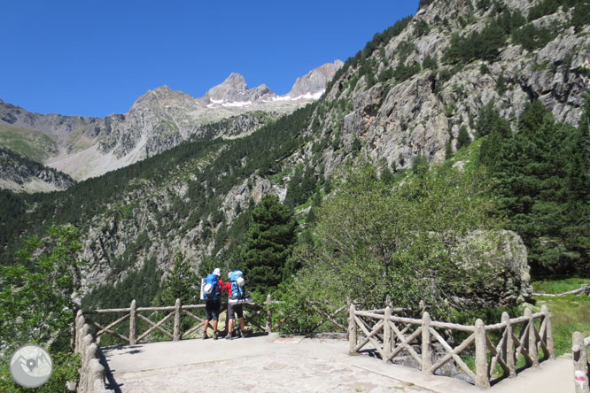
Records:
{"label": "tall dark green pines at right edge, below the cliff", "polygon": [[[579,128],[584,135],[584,124]],[[587,153],[579,142],[571,143],[580,141],[571,135],[580,134],[556,123],[535,101],[520,116],[514,136],[501,138],[493,131],[487,144],[482,143],[480,157],[498,180],[508,228],[523,237],[530,263],[539,272],[568,270],[574,263],[587,262],[583,256],[588,250],[587,218],[579,216],[588,200],[583,175]],[[572,232],[582,235],[572,242]]]}

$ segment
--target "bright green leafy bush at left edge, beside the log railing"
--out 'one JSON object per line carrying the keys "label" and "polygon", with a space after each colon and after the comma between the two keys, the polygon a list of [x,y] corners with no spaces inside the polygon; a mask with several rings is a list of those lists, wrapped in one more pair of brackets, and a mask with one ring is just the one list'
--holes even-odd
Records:
{"label": "bright green leafy bush at left edge, beside the log railing", "polygon": [[80,282],[78,229],[52,226],[44,238],[32,237],[17,263],[0,266],[0,342],[13,349],[23,343],[65,350]]}

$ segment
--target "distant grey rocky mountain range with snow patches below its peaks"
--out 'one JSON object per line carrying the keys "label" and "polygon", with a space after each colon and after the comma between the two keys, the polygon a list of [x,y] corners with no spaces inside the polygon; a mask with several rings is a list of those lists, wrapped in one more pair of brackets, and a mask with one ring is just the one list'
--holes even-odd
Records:
{"label": "distant grey rocky mountain range with snow patches below its peaks", "polygon": [[[162,86],[140,96],[127,113],[104,119],[32,113],[0,100],[0,146],[82,181],[159,154],[191,137],[236,137],[252,132],[268,120],[317,100],[342,65],[337,60],[312,70],[283,96],[266,85],[249,89],[239,73],[231,73],[198,98]],[[230,119],[232,126],[228,123],[217,131],[208,127],[223,119]],[[36,150],[28,142],[32,138],[39,140]],[[66,184],[48,184],[34,173],[31,176],[30,181],[4,178],[2,184],[20,190],[61,189]]]}

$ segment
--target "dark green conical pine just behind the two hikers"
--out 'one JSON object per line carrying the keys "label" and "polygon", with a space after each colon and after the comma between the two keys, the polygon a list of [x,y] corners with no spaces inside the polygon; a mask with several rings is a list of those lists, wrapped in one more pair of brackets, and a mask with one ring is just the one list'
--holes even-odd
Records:
{"label": "dark green conical pine just behind the two hikers", "polygon": [[277,196],[263,196],[252,211],[252,224],[242,253],[241,267],[248,289],[259,292],[276,289],[296,240],[295,229],[291,209],[281,204]]}

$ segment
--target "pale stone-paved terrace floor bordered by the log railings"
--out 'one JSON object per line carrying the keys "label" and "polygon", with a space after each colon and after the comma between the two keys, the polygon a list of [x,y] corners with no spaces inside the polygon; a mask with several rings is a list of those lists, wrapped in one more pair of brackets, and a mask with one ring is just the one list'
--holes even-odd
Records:
{"label": "pale stone-paved terrace floor bordered by the log railings", "polygon": [[541,363],[484,390],[464,381],[424,376],[369,356],[349,356],[341,339],[258,335],[103,348],[110,388],[125,393],[406,392],[570,393],[571,359]]}

